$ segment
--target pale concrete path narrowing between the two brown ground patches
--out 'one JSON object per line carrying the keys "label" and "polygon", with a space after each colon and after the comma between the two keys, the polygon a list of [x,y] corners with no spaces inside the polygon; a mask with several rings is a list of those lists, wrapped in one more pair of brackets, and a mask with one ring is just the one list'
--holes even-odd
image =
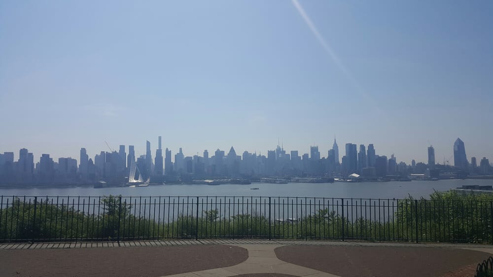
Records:
{"label": "pale concrete path narrowing between the two brown ground patches", "polygon": [[275,248],[284,246],[280,244],[235,244],[248,250],[248,259],[245,262],[231,267],[217,268],[190,272],[185,274],[171,275],[171,277],[197,277],[197,276],[216,276],[228,277],[245,274],[267,274],[278,273],[294,276],[311,276],[311,277],[337,277],[337,275],[328,274],[298,265],[293,265],[281,261],[274,252]]}

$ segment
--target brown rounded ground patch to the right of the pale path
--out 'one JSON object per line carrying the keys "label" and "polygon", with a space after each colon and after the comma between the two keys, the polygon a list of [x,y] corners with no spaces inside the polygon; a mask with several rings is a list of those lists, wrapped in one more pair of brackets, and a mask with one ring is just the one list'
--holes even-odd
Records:
{"label": "brown rounded ground patch to the right of the pale path", "polygon": [[282,261],[342,277],[440,276],[490,255],[435,247],[288,245],[274,251]]}

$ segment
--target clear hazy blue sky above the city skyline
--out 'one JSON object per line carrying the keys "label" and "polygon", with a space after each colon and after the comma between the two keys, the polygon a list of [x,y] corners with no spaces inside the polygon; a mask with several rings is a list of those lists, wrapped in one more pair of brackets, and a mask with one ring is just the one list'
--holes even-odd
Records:
{"label": "clear hazy blue sky above the city skyline", "polygon": [[0,1],[0,152],[493,159],[493,1]]}

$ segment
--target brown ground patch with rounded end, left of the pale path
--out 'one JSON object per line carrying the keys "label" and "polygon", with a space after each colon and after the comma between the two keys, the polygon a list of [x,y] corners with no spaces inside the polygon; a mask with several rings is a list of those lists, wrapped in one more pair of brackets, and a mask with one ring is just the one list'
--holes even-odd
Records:
{"label": "brown ground patch with rounded end, left of the pale path", "polygon": [[231,245],[0,250],[0,276],[165,276],[247,258]]}

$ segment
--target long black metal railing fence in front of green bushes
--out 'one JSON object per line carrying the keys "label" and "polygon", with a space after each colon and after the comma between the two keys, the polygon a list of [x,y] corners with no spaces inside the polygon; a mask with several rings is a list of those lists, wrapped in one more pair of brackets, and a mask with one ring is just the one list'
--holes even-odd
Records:
{"label": "long black metal railing fence in front of green bushes", "polygon": [[0,196],[0,242],[206,238],[493,243],[493,202]]}

